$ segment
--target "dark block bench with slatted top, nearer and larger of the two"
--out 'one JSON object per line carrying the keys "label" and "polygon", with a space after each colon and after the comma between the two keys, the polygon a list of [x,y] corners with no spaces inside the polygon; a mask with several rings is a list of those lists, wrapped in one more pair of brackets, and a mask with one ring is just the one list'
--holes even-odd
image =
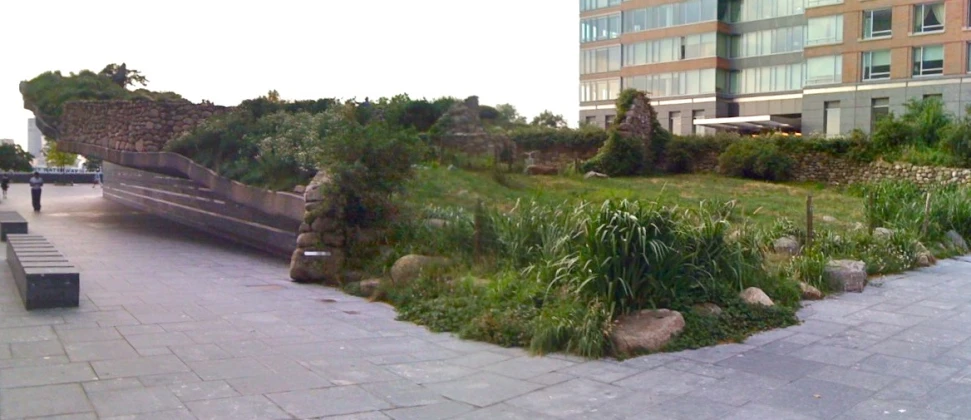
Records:
{"label": "dark block bench with slatted top, nearer and larger of the two", "polygon": [[43,236],[7,235],[7,264],[27,310],[79,305],[78,268]]}

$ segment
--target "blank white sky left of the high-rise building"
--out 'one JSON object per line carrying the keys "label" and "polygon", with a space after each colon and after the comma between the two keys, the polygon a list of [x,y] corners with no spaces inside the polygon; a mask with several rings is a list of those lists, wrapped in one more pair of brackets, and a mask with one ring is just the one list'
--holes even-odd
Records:
{"label": "blank white sky left of the high-rise building", "polygon": [[20,81],[112,62],[193,102],[236,105],[270,89],[478,95],[576,126],[577,10],[575,0],[0,0],[0,138],[26,149]]}

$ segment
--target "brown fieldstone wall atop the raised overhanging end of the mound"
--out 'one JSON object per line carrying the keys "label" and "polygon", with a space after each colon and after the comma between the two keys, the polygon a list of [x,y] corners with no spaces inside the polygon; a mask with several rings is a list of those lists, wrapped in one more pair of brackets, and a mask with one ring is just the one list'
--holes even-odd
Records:
{"label": "brown fieldstone wall atop the raised overhanging end of the mound", "polygon": [[59,140],[130,152],[157,152],[228,107],[189,101],[76,101],[64,105]]}

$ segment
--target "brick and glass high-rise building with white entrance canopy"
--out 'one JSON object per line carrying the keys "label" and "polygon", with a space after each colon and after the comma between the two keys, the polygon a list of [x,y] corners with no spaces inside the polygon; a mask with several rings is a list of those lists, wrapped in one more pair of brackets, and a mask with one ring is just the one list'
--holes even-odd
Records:
{"label": "brick and glass high-rise building with white entrance canopy", "polygon": [[580,121],[622,89],[675,134],[870,131],[911,99],[971,104],[971,0],[581,0]]}

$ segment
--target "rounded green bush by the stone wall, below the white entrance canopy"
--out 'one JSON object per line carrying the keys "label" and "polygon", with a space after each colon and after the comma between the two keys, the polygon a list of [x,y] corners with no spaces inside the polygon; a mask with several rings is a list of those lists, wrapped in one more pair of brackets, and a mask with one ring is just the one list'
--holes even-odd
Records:
{"label": "rounded green bush by the stone wall, below the white entrance canopy", "polygon": [[793,160],[775,142],[741,140],[725,149],[718,158],[719,170],[728,176],[766,181],[787,181]]}

